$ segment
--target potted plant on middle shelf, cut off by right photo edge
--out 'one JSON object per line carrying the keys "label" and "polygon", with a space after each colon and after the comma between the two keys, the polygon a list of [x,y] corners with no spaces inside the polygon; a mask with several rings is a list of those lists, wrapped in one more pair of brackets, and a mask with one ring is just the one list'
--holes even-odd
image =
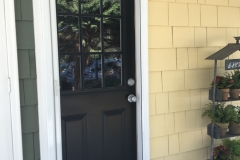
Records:
{"label": "potted plant on middle shelf, cut off by right photo edge", "polygon": [[229,123],[229,133],[230,134],[240,134],[240,107],[233,106],[236,112],[236,118],[234,121],[230,121]]}

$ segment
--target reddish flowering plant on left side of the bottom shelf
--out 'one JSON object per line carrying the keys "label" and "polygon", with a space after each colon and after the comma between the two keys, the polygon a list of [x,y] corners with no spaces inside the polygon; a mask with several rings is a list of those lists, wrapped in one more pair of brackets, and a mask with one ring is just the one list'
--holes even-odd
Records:
{"label": "reddish flowering plant on left side of the bottom shelf", "polygon": [[231,152],[226,146],[220,145],[213,148],[213,159],[216,160],[232,160]]}

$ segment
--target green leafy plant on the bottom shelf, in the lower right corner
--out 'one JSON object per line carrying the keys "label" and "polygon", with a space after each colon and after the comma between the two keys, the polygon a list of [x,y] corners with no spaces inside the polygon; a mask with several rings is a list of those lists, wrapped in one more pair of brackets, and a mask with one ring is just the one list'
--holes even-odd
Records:
{"label": "green leafy plant on the bottom shelf, in the lower right corner", "polygon": [[232,160],[240,160],[240,139],[223,139],[222,144],[230,151]]}

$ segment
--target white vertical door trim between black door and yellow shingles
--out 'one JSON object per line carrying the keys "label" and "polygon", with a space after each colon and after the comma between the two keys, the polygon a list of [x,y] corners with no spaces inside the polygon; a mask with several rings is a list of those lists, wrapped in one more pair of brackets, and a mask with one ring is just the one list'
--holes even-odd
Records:
{"label": "white vertical door trim between black door and yellow shingles", "polygon": [[[148,1],[135,0],[135,43],[137,69],[137,156],[150,159],[149,136],[149,74],[148,74]],[[140,144],[139,144],[140,143]]]}

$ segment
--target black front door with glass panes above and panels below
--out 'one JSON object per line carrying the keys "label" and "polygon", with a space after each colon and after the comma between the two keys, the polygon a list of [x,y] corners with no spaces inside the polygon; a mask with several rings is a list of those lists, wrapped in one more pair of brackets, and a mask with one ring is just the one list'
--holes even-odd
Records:
{"label": "black front door with glass panes above and panels below", "polygon": [[57,0],[63,160],[135,160],[134,0]]}

